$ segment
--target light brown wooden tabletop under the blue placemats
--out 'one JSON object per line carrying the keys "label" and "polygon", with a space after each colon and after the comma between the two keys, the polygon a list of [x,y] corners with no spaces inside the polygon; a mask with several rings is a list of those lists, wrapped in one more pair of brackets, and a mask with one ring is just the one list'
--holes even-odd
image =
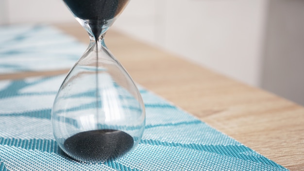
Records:
{"label": "light brown wooden tabletop under the blue placemats", "polygon": [[[88,44],[78,23],[56,27]],[[105,42],[135,82],[292,171],[304,171],[304,107],[110,30]],[[81,55],[81,54],[80,54]],[[54,75],[68,70],[2,75]]]}

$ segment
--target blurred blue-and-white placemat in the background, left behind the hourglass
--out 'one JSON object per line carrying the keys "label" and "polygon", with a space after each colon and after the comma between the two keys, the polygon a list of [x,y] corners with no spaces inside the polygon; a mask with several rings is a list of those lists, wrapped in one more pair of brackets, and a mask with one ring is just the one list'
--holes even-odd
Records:
{"label": "blurred blue-and-white placemat in the background, left behind the hourglass", "polygon": [[0,74],[69,69],[87,45],[48,25],[0,27]]}

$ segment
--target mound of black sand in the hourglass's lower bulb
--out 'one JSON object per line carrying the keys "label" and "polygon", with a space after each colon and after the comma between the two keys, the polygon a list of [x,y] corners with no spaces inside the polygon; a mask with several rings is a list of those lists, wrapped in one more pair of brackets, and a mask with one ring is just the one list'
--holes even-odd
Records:
{"label": "mound of black sand in the hourglass's lower bulb", "polygon": [[75,159],[104,162],[126,154],[134,145],[133,138],[119,130],[94,130],[69,137],[64,146]]}

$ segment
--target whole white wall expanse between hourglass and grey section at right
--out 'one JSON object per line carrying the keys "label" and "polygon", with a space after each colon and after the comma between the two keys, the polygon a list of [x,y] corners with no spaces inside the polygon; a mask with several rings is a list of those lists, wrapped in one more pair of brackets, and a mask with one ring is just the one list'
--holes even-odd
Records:
{"label": "whole white wall expanse between hourglass and grey section at right", "polygon": [[258,86],[266,8],[267,0],[132,0],[114,27]]}

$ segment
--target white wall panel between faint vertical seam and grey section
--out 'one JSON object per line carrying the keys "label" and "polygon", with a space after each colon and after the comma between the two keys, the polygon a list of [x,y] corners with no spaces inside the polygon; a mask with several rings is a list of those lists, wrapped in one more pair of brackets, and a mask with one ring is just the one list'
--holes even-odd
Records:
{"label": "white wall panel between faint vertical seam and grey section", "polygon": [[265,0],[168,0],[165,47],[259,85]]}

